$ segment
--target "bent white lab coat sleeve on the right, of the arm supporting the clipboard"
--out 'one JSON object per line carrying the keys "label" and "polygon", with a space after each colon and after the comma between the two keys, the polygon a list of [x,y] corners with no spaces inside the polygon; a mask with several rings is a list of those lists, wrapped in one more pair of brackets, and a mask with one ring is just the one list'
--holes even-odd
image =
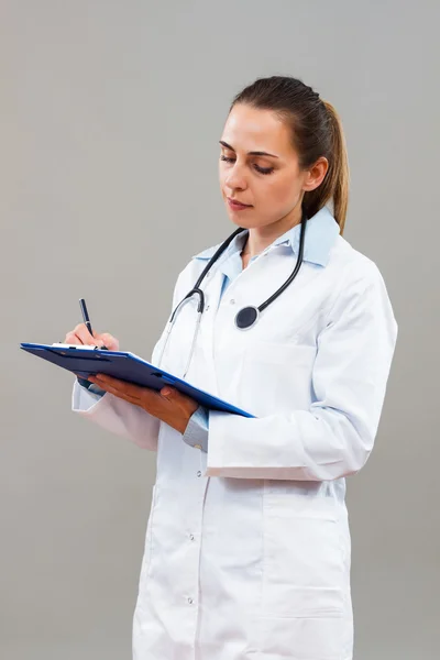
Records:
{"label": "bent white lab coat sleeve on the right, of the arm supporting the clipboard", "polygon": [[356,473],[373,449],[396,338],[370,262],[367,275],[344,278],[318,336],[309,409],[255,419],[211,410],[206,474],[331,481]]}

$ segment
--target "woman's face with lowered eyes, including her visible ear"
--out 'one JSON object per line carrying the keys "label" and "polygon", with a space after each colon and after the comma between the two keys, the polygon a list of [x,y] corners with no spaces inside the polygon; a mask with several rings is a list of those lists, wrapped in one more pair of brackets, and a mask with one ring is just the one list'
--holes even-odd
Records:
{"label": "woman's face with lowered eyes, including her visible ear", "polygon": [[[227,211],[232,222],[245,229],[273,231],[300,222],[304,194],[319,186],[328,167],[327,160],[320,158],[314,168],[301,170],[287,125],[272,110],[240,103],[228,117],[220,148],[220,189]],[[249,206],[231,207],[231,199]]]}

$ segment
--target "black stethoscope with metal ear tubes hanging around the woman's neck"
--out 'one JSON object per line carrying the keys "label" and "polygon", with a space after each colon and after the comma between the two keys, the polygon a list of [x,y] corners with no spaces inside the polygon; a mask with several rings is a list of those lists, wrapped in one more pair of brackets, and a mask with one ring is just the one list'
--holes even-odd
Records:
{"label": "black stethoscope with metal ear tubes hanging around the woman's neck", "polygon": [[[288,277],[288,279],[286,279],[286,282],[283,284],[283,286],[280,286],[275,292],[275,294],[273,294],[270,298],[267,298],[267,300],[265,300],[264,302],[262,302],[258,307],[254,307],[254,306],[250,305],[249,307],[243,307],[243,309],[240,309],[240,311],[235,316],[235,321],[234,321],[237,328],[239,328],[240,330],[249,330],[250,328],[252,328],[256,323],[256,321],[258,320],[262,311],[264,311],[274,300],[276,300],[276,298],[289,286],[289,284],[292,284],[294,282],[295,277],[298,275],[298,271],[299,271],[299,268],[301,267],[301,264],[302,264],[304,241],[305,241],[305,237],[306,237],[307,220],[308,220],[308,218],[306,216],[305,210],[302,209],[301,232],[300,232],[300,237],[299,237],[298,258],[297,258],[297,262],[295,264],[294,272]],[[185,298],[174,309],[174,311],[173,311],[173,314],[172,314],[172,316],[169,318],[167,328],[166,328],[165,341],[164,341],[164,344],[163,344],[162,350],[161,350],[161,355],[160,355],[160,359],[158,359],[157,366],[161,365],[162,358],[163,358],[163,354],[165,352],[165,348],[166,348],[166,345],[168,343],[169,334],[170,334],[170,331],[173,330],[173,327],[174,327],[174,323],[176,321],[176,317],[177,317],[178,311],[180,310],[180,308],[184,305],[186,305],[193,298],[193,296],[197,295],[199,297],[199,302],[198,302],[198,306],[197,306],[196,331],[195,331],[194,337],[193,337],[191,349],[190,349],[190,352],[189,352],[188,362],[187,362],[187,365],[185,367],[185,373],[183,375],[183,377],[185,378],[185,376],[186,376],[186,374],[188,372],[189,365],[191,363],[194,350],[195,350],[195,346],[196,346],[197,336],[198,336],[198,331],[199,331],[199,327],[200,327],[200,321],[201,321],[201,315],[205,311],[205,294],[204,294],[202,289],[200,288],[200,285],[204,282],[205,277],[208,275],[209,271],[215,265],[215,263],[220,258],[220,256],[223,254],[223,252],[229,248],[230,243],[234,240],[235,237],[238,237],[243,231],[248,231],[248,230],[243,229],[242,227],[239,227],[239,229],[237,229],[230,237],[228,237],[228,239],[220,245],[220,248],[217,250],[217,252],[209,260],[208,264],[206,265],[206,267],[201,272],[201,275],[197,279],[196,284],[194,285],[194,288],[191,288],[191,290],[188,292],[188,294],[185,296]]]}

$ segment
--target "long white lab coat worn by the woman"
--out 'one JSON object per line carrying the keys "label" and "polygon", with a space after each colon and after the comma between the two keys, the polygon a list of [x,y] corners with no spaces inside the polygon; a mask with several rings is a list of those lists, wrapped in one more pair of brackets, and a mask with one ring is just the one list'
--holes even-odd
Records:
{"label": "long white lab coat worn by the woman", "polygon": [[[255,327],[237,329],[237,311],[270,297],[295,261],[270,248],[219,307],[220,272],[202,285],[209,309],[187,380],[257,416],[211,413],[208,453],[75,384],[75,411],[157,450],[134,660],[352,659],[344,477],[372,451],[397,324],[376,265],[338,234],[326,267],[305,262]],[[191,260],[180,273],[173,308],[205,265]],[[162,362],[176,374],[195,305],[180,311]]]}

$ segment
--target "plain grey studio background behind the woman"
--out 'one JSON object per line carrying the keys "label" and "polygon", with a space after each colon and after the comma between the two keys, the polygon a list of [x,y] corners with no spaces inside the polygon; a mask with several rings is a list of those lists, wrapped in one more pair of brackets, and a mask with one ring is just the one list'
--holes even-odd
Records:
{"label": "plain grey studio background behind the woman", "polygon": [[155,471],[18,344],[64,339],[85,296],[98,331],[150,356],[177,273],[234,229],[217,179],[229,103],[288,74],[342,117],[344,235],[399,323],[376,447],[348,481],[355,658],[438,658],[439,4],[0,7],[0,657],[130,659]]}

